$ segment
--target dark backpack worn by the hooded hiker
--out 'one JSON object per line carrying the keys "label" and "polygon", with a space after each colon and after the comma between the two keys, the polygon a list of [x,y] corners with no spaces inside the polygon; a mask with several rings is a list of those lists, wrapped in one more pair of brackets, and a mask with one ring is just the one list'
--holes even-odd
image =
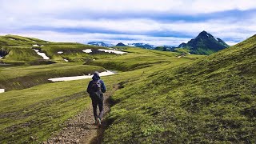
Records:
{"label": "dark backpack worn by the hooded hiker", "polygon": [[103,94],[102,94],[102,83],[100,80],[93,81],[91,86],[91,98],[96,98],[98,100],[102,100]]}

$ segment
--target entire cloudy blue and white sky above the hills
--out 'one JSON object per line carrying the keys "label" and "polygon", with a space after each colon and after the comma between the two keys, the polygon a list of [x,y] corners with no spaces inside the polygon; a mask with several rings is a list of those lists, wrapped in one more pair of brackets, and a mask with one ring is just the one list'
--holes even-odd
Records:
{"label": "entire cloudy blue and white sky above the hills", "polygon": [[0,34],[54,42],[177,46],[206,30],[230,45],[256,34],[255,0],[0,0]]}

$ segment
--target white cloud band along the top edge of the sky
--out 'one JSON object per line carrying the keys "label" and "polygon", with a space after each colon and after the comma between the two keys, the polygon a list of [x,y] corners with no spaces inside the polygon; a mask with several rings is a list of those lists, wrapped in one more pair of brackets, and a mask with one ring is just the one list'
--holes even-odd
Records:
{"label": "white cloud band along the top edge of the sky", "polygon": [[2,0],[2,10],[12,14],[58,14],[63,11],[94,12],[169,12],[173,14],[201,14],[224,10],[250,10],[254,0]]}

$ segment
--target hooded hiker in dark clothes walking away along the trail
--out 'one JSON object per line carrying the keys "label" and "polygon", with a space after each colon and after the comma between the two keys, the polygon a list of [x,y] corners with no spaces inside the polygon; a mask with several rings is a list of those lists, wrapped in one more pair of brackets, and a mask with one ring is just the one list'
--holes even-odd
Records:
{"label": "hooded hiker in dark clothes walking away along the trail", "polygon": [[[103,117],[103,93],[106,92],[106,86],[100,79],[98,71],[95,71],[92,79],[93,80],[89,82],[87,87],[87,92],[90,94],[90,98],[92,100],[95,123],[97,123],[98,126],[101,126]],[[97,114],[97,106],[99,114]]]}

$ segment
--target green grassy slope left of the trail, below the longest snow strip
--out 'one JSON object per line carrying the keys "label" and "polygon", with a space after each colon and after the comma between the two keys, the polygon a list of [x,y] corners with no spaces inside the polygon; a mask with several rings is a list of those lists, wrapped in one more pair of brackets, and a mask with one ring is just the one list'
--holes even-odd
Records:
{"label": "green grassy slope left of the trail, below the longest snow strip", "polygon": [[86,81],[56,82],[0,94],[1,142],[46,140],[68,118],[89,106],[85,87]]}

